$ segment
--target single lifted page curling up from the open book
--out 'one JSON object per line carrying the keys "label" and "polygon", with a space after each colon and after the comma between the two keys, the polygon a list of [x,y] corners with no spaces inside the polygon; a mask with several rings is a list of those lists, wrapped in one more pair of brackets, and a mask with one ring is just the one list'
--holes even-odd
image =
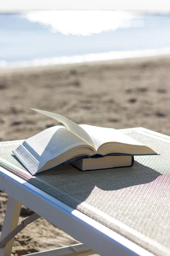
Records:
{"label": "single lifted page curling up from the open book", "polygon": [[84,140],[86,143],[88,143],[89,145],[94,147],[93,141],[91,140],[91,137],[88,135],[88,133],[84,129],[82,129],[79,125],[77,125],[75,122],[71,121],[70,119],[68,119],[64,116],[56,114],[56,113],[43,111],[43,110],[39,110],[39,109],[34,109],[34,108],[31,108],[31,109],[34,111],[37,111],[45,116],[52,117],[52,118],[56,119],[57,121],[61,122],[63,125],[65,125],[65,127],[68,129],[68,131],[71,131],[72,133],[77,135],[79,138]]}

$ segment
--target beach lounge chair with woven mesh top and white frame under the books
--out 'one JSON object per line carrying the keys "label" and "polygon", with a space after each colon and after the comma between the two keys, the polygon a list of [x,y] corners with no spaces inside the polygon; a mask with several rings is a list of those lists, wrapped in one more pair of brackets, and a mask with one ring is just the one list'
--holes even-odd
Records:
{"label": "beach lounge chair with woven mesh top and white frame under the books", "polygon": [[104,256],[170,255],[170,137],[144,128],[121,131],[160,155],[135,157],[130,168],[79,172],[68,165],[33,177],[11,154],[21,141],[0,143],[0,189],[9,195],[0,256],[10,256],[8,234],[21,204],[37,213],[31,221],[40,215],[83,243],[34,256],[89,255],[89,248]]}

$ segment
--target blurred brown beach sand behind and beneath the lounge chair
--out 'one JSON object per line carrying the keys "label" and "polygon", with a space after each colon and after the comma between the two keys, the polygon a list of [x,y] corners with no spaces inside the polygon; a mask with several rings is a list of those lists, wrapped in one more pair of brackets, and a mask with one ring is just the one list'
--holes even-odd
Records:
{"label": "blurred brown beach sand behind and beneath the lounge chair", "polygon": [[[79,124],[139,127],[170,135],[170,57],[0,71],[0,141],[26,139],[58,123],[29,108]],[[0,193],[0,230],[7,196]],[[31,210],[22,208],[20,220]],[[40,218],[16,236],[13,255],[76,241]]]}

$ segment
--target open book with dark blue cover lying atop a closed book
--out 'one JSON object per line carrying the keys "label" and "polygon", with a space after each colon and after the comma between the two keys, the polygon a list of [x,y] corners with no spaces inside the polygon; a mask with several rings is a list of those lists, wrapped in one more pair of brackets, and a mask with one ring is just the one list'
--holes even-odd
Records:
{"label": "open book with dark blue cover lying atop a closed book", "polygon": [[13,151],[32,175],[95,154],[156,154],[153,149],[113,128],[77,125],[59,114],[33,110],[56,119],[63,126],[48,128],[28,138]]}

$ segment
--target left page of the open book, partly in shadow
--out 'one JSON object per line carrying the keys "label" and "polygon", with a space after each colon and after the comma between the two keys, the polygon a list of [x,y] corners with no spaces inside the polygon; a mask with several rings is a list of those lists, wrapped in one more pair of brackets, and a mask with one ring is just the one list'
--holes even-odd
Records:
{"label": "left page of the open book, partly in shadow", "polygon": [[78,145],[88,145],[88,143],[59,125],[48,128],[23,142],[23,146],[39,162],[51,160]]}

